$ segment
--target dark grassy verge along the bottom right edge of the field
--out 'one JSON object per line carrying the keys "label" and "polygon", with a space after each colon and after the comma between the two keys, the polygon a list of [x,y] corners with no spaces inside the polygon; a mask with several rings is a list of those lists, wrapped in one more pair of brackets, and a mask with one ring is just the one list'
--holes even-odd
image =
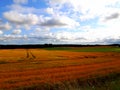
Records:
{"label": "dark grassy verge along the bottom right edge of the field", "polygon": [[120,90],[120,73],[86,80],[76,79],[56,84],[44,83],[15,90]]}

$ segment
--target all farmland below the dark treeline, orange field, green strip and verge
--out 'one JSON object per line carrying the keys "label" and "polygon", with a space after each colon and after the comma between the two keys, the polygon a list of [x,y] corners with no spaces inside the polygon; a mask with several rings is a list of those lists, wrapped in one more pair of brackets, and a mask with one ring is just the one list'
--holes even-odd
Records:
{"label": "all farmland below the dark treeline, orange field, green strip and verge", "polygon": [[119,47],[0,50],[0,90],[120,90]]}

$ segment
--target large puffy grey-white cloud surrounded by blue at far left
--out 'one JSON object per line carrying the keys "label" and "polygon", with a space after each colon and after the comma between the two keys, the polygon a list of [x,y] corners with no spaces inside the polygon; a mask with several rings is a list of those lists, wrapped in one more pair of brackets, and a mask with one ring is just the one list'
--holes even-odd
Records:
{"label": "large puffy grey-white cloud surrounded by blue at far left", "polygon": [[5,12],[4,17],[16,28],[24,27],[26,30],[30,30],[32,26],[37,25],[39,17],[36,14],[23,14],[16,11]]}

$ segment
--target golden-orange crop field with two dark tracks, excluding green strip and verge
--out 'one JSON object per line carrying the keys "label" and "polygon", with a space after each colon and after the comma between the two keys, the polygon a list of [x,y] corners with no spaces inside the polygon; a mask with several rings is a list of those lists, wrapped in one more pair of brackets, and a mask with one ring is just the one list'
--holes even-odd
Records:
{"label": "golden-orange crop field with two dark tracks, excluding green strip and verge", "polygon": [[[111,73],[120,73],[120,52],[0,50],[0,90],[54,85],[65,81],[102,77]],[[35,90],[40,90],[40,87]]]}

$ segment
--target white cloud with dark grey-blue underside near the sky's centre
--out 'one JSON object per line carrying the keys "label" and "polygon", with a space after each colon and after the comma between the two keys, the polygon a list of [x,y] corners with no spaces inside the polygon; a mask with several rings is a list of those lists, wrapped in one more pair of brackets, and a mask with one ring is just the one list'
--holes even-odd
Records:
{"label": "white cloud with dark grey-blue underside near the sky's centre", "polygon": [[46,18],[41,22],[41,26],[46,26],[46,27],[67,27],[67,28],[72,28],[79,26],[79,22],[76,22],[75,20],[66,17],[66,16],[58,16],[58,17],[53,17],[53,18]]}

